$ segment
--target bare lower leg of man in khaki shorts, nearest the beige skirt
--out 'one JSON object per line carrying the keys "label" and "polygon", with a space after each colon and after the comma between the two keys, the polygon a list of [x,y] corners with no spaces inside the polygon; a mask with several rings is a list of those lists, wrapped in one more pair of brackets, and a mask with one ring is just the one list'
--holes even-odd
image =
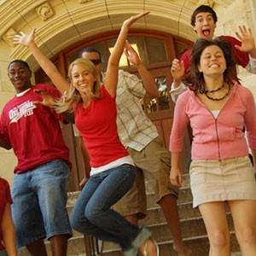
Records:
{"label": "bare lower leg of man in khaki shorts, nearest the beige skirt", "polygon": [[166,195],[159,201],[159,204],[164,212],[167,224],[172,233],[173,249],[179,254],[189,255],[190,250],[184,244],[182,239],[176,197],[174,195]]}

